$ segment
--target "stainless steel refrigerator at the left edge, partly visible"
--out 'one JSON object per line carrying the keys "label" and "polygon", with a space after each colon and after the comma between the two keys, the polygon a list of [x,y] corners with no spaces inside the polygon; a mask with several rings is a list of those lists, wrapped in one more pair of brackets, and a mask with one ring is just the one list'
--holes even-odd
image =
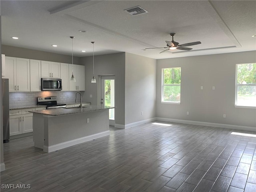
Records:
{"label": "stainless steel refrigerator at the left edge, partly visible", "polygon": [[2,79],[3,94],[3,136],[4,143],[10,139],[10,123],[9,123],[9,79]]}

